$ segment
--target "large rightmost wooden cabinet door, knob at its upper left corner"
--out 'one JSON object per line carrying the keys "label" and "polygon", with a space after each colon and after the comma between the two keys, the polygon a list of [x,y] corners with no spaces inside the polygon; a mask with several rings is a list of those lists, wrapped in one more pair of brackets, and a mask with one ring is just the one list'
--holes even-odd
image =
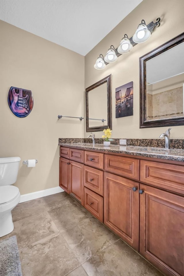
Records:
{"label": "large rightmost wooden cabinet door, knob at its upper left corner", "polygon": [[139,251],[166,275],[184,275],[184,198],[140,184]]}

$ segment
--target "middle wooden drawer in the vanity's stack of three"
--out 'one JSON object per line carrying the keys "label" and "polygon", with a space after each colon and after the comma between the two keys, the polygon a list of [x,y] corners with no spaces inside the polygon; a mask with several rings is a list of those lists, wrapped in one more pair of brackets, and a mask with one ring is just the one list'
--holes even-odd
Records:
{"label": "middle wooden drawer in the vanity's stack of three", "polygon": [[104,172],[84,166],[84,186],[103,196]]}

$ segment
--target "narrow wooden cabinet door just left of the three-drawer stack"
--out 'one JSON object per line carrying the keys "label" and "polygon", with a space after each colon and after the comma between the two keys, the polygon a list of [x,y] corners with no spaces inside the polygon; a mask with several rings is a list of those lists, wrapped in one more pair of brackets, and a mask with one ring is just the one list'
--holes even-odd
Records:
{"label": "narrow wooden cabinet door just left of the three-drawer stack", "polygon": [[83,164],[70,160],[70,195],[84,206]]}

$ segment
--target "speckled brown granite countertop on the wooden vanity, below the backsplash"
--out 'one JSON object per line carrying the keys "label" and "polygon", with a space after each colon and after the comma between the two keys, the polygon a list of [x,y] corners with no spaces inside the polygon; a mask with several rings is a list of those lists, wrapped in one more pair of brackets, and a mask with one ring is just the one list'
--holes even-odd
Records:
{"label": "speckled brown granite countertop on the wooden vanity, below the backsplash", "polygon": [[103,144],[95,144],[93,146],[93,144],[91,143],[59,143],[59,145],[63,147],[73,147],[83,150],[114,152],[184,162],[184,150],[177,149],[165,150],[164,148],[158,147],[137,147],[121,145],[110,145],[109,147],[105,147]]}

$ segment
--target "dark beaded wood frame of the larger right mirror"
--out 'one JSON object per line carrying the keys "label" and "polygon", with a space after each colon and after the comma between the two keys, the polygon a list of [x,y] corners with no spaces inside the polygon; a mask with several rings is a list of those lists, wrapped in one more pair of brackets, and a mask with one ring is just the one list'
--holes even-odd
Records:
{"label": "dark beaded wood frame of the larger right mirror", "polygon": [[140,128],[184,125],[184,117],[146,120],[146,61],[182,43],[184,32],[139,58],[140,68]]}

